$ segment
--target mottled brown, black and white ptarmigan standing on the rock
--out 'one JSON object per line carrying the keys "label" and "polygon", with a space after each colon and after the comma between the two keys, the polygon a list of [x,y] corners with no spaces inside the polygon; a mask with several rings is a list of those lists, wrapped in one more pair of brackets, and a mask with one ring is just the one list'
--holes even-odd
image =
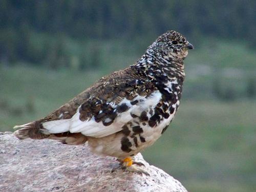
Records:
{"label": "mottled brown, black and white ptarmigan standing on the rock", "polygon": [[180,105],[184,59],[194,49],[180,33],[160,35],[131,66],[97,80],[45,118],[16,125],[19,139],[88,143],[129,172],[149,175],[134,156],[167,129]]}

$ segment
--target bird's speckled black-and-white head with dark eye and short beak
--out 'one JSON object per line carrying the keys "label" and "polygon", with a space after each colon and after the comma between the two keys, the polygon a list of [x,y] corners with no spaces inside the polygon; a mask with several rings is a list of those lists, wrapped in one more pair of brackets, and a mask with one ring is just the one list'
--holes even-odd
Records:
{"label": "bird's speckled black-and-white head with dark eye and short beak", "polygon": [[174,59],[184,59],[187,56],[188,49],[194,49],[193,45],[176,31],[167,31],[159,36],[153,43],[152,48],[160,54]]}

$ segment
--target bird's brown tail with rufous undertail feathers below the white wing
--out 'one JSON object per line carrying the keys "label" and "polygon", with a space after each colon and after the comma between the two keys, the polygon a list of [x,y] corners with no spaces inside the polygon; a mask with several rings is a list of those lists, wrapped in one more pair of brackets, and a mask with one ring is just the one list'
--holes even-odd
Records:
{"label": "bird's brown tail with rufous undertail feathers below the white wing", "polygon": [[14,135],[19,139],[54,139],[64,144],[79,145],[88,140],[88,137],[81,133],[63,132],[57,134],[51,134],[45,131],[42,126],[42,121],[33,121],[24,125],[16,125],[13,129],[19,129],[14,132]]}

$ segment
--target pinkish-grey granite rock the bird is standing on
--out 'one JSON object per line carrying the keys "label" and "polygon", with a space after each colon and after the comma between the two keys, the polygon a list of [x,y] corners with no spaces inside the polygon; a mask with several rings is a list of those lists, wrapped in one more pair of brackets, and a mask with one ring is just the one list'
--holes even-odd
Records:
{"label": "pinkish-grey granite rock the bird is standing on", "polygon": [[[175,191],[187,192],[163,170],[149,165],[150,176],[125,172],[114,157],[99,157],[87,145],[54,140],[18,140],[0,134],[0,191]],[[113,168],[117,168],[112,172]]]}

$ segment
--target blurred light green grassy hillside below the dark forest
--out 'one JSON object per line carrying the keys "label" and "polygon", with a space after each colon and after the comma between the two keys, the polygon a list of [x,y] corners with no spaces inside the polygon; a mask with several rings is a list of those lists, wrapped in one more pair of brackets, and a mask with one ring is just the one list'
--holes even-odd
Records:
{"label": "blurred light green grassy hillside below the dark forest", "polygon": [[[189,191],[253,191],[256,187],[255,98],[237,94],[239,97],[234,100],[216,99],[211,93],[215,74],[205,68],[253,69],[256,57],[242,44],[237,48],[234,42],[217,47],[209,45],[190,52],[185,61],[187,77],[177,117],[143,155],[179,179]],[[132,51],[125,54],[125,49],[118,50],[113,44],[109,49],[102,49],[104,62],[100,62],[97,70],[50,70],[23,63],[7,67],[2,63],[0,131],[11,131],[16,124],[44,117],[102,75],[122,69],[139,57]],[[221,84],[226,84],[224,88],[239,87],[240,93],[245,87],[243,81],[244,77],[231,73],[231,78],[223,78]]]}

